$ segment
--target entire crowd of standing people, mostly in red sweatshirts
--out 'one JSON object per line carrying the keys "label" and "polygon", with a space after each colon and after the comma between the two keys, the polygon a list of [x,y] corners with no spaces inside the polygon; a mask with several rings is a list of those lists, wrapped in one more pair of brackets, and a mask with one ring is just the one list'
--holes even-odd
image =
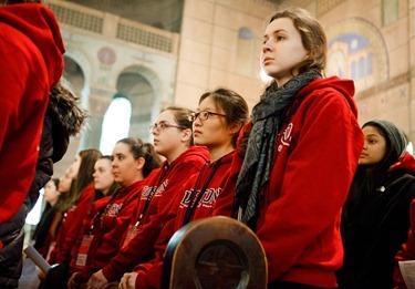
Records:
{"label": "entire crowd of standing people, mostly in red sweatshirts", "polygon": [[24,217],[43,186],[33,240],[54,266],[40,288],[159,288],[172,236],[211,216],[257,235],[269,288],[405,288],[397,261],[415,259],[414,157],[394,123],[359,125],[354,83],[324,75],[326,35],[308,11],[270,18],[260,63],[272,80],[251,112],[232,90],[207,91],[197,107],[164,109],[153,143],[80,151],[50,180],[86,112],[62,78],[53,13],[41,0],[0,2],[1,288],[18,287]]}

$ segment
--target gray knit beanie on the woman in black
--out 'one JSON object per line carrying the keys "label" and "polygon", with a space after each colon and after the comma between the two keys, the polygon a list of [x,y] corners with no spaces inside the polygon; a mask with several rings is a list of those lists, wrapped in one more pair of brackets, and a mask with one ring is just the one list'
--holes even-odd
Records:
{"label": "gray knit beanie on the woman in black", "polygon": [[390,140],[391,151],[394,152],[396,158],[403,156],[406,152],[406,138],[402,131],[391,123],[390,121],[384,120],[373,120],[366,122],[363,126],[376,126],[382,130],[385,138]]}

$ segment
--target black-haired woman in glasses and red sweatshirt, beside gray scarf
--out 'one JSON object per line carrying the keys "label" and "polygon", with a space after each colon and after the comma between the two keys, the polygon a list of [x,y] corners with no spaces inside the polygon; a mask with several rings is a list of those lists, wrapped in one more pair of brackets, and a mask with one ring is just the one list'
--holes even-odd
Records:
{"label": "black-haired woman in glasses and red sweatshirt, beside gray scarf", "polygon": [[[177,194],[168,221],[154,247],[153,259],[136,266],[134,272],[125,273],[121,288],[159,288],[163,256],[170,237],[187,223],[215,215],[216,200],[222,197],[237,136],[248,120],[248,105],[236,92],[217,89],[201,95],[199,107],[190,117],[194,121],[195,144],[208,148],[210,161],[198,174],[190,176],[180,194]],[[229,207],[232,197],[227,198]],[[231,210],[222,214],[230,216]]]}

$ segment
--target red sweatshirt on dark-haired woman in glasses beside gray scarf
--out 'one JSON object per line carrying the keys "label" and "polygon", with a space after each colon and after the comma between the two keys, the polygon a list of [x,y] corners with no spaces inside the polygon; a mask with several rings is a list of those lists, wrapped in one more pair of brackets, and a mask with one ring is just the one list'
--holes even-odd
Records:
{"label": "red sweatshirt on dark-haired woman in glasses beside gray scarf", "polygon": [[[175,231],[191,220],[215,215],[216,200],[222,197],[221,192],[228,179],[232,158],[234,152],[222,156],[215,163],[207,163],[199,174],[195,174],[189,178],[183,187],[181,192],[184,193],[177,194],[175,204],[172,206],[167,217],[168,221],[163,227],[154,246],[156,250],[154,258],[134,268],[134,271],[137,271],[139,276],[136,279],[135,288],[159,288],[164,252]],[[203,195],[196,194],[200,193],[201,189],[204,189]],[[232,203],[232,198],[226,197],[226,199],[228,203]],[[231,210],[221,210],[221,215],[230,216]]]}

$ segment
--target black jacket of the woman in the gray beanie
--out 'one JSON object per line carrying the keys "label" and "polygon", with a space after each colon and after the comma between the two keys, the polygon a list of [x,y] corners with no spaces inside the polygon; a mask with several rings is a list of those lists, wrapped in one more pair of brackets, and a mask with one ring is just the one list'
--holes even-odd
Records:
{"label": "black jacket of the woman in the gray beanie", "polygon": [[407,154],[364,202],[344,206],[340,288],[393,288],[395,255],[406,241],[415,198],[415,161]]}

